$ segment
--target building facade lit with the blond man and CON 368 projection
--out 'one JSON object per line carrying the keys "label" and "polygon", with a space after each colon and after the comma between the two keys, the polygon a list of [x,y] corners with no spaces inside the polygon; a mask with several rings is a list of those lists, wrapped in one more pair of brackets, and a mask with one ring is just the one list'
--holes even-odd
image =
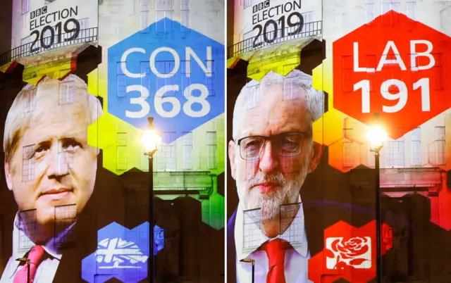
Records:
{"label": "building facade lit with the blond man and CON 368 projection", "polygon": [[[223,280],[223,11],[217,1],[13,1],[11,50],[0,56],[1,282],[18,276],[13,257],[36,246],[45,251],[37,282],[149,279],[149,208],[157,281]],[[41,133],[56,135],[27,141],[39,117]],[[161,135],[153,201],[140,144],[148,117]],[[91,149],[89,167],[78,154]],[[10,182],[20,153],[21,181]],[[35,204],[18,201],[20,186]],[[47,194],[54,227],[44,229]]]}

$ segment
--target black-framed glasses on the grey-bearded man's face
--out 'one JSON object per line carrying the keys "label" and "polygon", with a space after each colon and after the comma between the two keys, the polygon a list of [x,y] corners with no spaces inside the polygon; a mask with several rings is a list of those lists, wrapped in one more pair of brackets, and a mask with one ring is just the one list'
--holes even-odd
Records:
{"label": "black-framed glasses on the grey-bearded man's face", "polygon": [[264,151],[266,141],[270,140],[273,152],[277,156],[297,156],[301,153],[304,139],[311,137],[311,132],[284,132],[270,137],[250,136],[238,139],[240,156],[246,161],[258,159]]}

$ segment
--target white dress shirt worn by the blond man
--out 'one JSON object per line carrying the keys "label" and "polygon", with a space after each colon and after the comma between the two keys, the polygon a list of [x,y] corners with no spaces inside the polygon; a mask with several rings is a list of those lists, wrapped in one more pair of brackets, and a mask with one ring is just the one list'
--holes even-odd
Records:
{"label": "white dress shirt worn by the blond man", "polygon": [[[32,243],[29,237],[18,228],[20,224],[18,223],[18,215],[16,214],[16,219],[14,220],[13,227],[13,255],[8,260],[8,264],[1,276],[0,283],[12,283],[14,281],[14,276],[16,276],[16,272],[18,272],[21,268],[25,268],[25,265],[20,265],[20,262],[16,260],[16,258],[23,258],[25,254],[30,251],[32,246],[35,244],[30,244],[30,249],[19,249],[19,241],[23,241],[25,243]],[[44,256],[42,256],[43,260],[38,265],[35,277],[33,279],[33,283],[51,283],[54,280],[56,270],[58,270],[58,265],[62,257],[61,251],[55,249],[55,242],[60,242],[58,239],[63,239],[63,237],[68,234],[70,229],[74,227],[70,225],[68,229],[58,235],[58,237],[50,239],[47,244],[42,246],[44,248]]]}

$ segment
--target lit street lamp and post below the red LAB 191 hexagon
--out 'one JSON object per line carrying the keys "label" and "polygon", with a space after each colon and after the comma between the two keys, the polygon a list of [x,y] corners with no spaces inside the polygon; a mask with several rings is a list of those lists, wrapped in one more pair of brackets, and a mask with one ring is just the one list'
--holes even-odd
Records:
{"label": "lit street lamp and post below the red LAB 191 hexagon", "polygon": [[378,283],[382,282],[381,264],[381,186],[379,184],[379,156],[383,148],[383,140],[388,136],[380,125],[372,125],[366,133],[366,139],[370,142],[370,151],[374,152],[374,168],[376,169],[376,275]]}

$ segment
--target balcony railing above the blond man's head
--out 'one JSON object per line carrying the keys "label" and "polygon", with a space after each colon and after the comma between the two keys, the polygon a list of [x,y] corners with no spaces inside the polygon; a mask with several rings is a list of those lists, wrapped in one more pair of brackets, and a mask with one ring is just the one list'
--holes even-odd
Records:
{"label": "balcony railing above the blond man's head", "polygon": [[[16,47],[10,51],[6,51],[0,55],[0,65],[4,65],[11,61],[15,61],[18,58],[32,56],[39,54],[42,51],[56,49],[63,46],[69,46],[72,44],[79,44],[83,42],[93,42],[97,40],[97,27],[91,27],[85,30],[80,30],[78,36],[72,39],[74,32],[68,32],[63,34],[56,34],[53,37],[44,37],[42,40],[39,38],[34,42],[29,42],[21,46]],[[42,45],[42,46],[41,46]]]}

